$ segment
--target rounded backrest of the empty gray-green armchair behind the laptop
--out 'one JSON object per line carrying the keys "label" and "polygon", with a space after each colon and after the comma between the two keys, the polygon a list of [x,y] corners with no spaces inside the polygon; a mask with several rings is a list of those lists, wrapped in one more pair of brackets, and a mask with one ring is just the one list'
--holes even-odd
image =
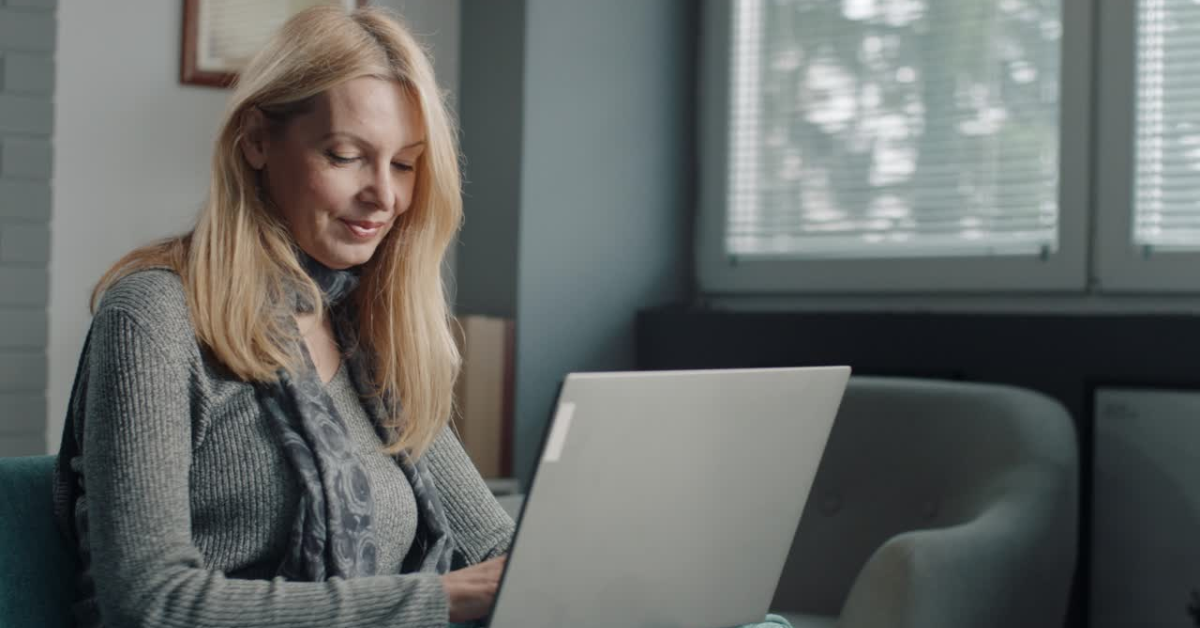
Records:
{"label": "rounded backrest of the empty gray-green armchair behind the laptop", "polygon": [[1039,478],[1031,500],[1062,502],[1045,504],[1054,516],[1038,521],[1052,530],[1032,533],[1062,542],[1042,549],[1070,567],[1076,467],[1070,417],[1043,395],[851,378],[772,608],[839,615],[854,578],[884,542],[973,519],[1013,472]]}

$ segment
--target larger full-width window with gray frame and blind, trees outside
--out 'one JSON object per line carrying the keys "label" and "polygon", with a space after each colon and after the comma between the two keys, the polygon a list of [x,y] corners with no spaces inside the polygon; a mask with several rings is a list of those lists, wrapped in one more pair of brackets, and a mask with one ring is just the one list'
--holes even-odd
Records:
{"label": "larger full-width window with gray frame and blind, trees outside", "polygon": [[1084,288],[1086,2],[706,12],[706,292]]}

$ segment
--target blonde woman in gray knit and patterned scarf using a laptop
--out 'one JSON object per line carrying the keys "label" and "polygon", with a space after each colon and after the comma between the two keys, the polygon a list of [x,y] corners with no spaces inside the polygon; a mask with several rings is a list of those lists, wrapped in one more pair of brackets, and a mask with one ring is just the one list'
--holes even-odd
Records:
{"label": "blonde woman in gray knit and patterned scarf using a laptop", "polygon": [[92,295],[55,488],[80,626],[482,617],[514,525],[448,427],[462,205],[428,59],[376,8],[296,16],[211,179]]}

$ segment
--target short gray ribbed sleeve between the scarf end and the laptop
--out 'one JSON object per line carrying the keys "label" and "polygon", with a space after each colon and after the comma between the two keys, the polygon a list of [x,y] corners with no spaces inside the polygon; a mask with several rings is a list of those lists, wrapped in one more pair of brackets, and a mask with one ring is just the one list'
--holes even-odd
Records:
{"label": "short gray ribbed sleeve between the scarf end and the laptop", "polygon": [[475,564],[509,551],[516,526],[504,512],[479,469],[450,427],[442,430],[425,453],[455,543]]}

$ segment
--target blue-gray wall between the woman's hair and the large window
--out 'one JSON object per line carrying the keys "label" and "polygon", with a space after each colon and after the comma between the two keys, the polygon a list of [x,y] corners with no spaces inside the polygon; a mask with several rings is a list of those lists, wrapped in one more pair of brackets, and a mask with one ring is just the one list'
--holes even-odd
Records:
{"label": "blue-gray wall between the woman's hair and the large window", "polygon": [[[475,5],[463,11],[466,157],[470,180],[496,180],[468,187],[460,304],[505,313],[505,299],[515,303],[515,455],[527,482],[562,377],[631,369],[636,311],[685,295],[694,7],[508,1],[522,31],[496,28],[487,14],[499,10]],[[522,34],[516,72],[510,55]],[[488,67],[509,73],[485,76],[488,89],[474,91],[473,77]],[[520,121],[508,119],[511,107]],[[518,139],[480,149],[473,133]]]}

